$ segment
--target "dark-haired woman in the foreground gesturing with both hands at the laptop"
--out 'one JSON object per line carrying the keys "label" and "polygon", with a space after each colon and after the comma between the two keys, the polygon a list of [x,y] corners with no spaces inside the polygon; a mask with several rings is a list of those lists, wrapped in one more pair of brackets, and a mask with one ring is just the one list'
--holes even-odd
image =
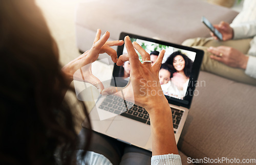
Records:
{"label": "dark-haired woman in the foreground gesturing with both hands at the laptop", "polygon": [[[98,30],[92,48],[61,69],[56,43],[35,2],[0,2],[0,164],[76,164],[78,135],[72,113],[75,107],[64,98],[65,93],[74,93],[70,83],[76,70],[84,65],[90,66],[99,54],[107,52],[113,62],[118,62],[117,54],[110,46],[122,45],[123,41],[107,41],[110,33],[100,37],[101,31]],[[144,91],[137,90],[142,85],[140,80],[147,81],[148,86],[144,86],[144,90],[161,90],[160,83],[155,85],[155,82],[159,81],[158,72],[164,51],[151,66],[139,61],[134,48],[144,61],[150,60],[150,55],[138,44],[133,45],[129,37],[125,37],[125,46],[131,63],[131,83],[123,93],[129,96],[129,88],[133,85],[136,104],[150,114],[152,164],[181,164],[173,123],[169,120],[172,111],[167,100],[164,95],[143,96]],[[103,93],[102,86],[95,84],[100,81],[91,72],[83,73],[83,77],[81,81],[94,84]],[[86,114],[90,130],[86,107],[78,100],[77,104]],[[90,144],[90,134],[89,131],[86,145],[79,146],[84,151]],[[111,164],[99,154],[84,157],[85,154],[81,154],[84,161],[93,159],[94,164],[100,164],[98,158],[101,158],[105,164]]]}

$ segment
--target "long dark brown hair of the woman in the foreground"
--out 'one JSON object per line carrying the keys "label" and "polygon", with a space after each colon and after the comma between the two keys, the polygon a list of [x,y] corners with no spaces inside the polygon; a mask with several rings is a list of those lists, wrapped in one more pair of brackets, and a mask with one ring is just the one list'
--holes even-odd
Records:
{"label": "long dark brown hair of the woman in the foreground", "polygon": [[74,114],[63,99],[71,88],[54,44],[33,0],[0,0],[0,164],[57,164],[56,153],[61,164],[75,159]]}

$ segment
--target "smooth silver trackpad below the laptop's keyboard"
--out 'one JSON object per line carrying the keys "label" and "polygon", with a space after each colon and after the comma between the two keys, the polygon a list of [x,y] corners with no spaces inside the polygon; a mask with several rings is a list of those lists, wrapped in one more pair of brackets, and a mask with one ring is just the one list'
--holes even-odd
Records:
{"label": "smooth silver trackpad below the laptop's keyboard", "polygon": [[151,135],[150,125],[116,116],[106,134],[135,146],[144,147]]}

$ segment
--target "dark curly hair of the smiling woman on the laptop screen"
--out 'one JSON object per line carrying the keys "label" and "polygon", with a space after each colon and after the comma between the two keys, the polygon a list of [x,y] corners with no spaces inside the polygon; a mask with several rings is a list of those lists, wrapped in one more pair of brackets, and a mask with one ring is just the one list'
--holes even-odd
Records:
{"label": "dark curly hair of the smiling woman on the laptop screen", "polygon": [[190,73],[191,73],[192,66],[193,66],[193,61],[190,58],[188,58],[186,55],[182,54],[181,51],[176,51],[176,52],[172,53],[164,63],[168,64],[168,66],[172,70],[174,70],[174,72],[177,72],[177,70],[174,68],[173,63],[174,63],[174,58],[178,55],[182,56],[185,60],[184,74],[186,75],[186,77],[190,77]]}

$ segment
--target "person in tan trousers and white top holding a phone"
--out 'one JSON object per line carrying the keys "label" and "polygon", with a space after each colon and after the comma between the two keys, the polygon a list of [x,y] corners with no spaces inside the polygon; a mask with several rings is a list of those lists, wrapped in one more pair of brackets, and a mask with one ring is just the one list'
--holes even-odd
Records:
{"label": "person in tan trousers and white top holding a phone", "polygon": [[[244,2],[244,8],[251,6],[255,8],[255,1]],[[243,14],[240,13],[234,20],[239,20]],[[204,50],[201,70],[256,85],[256,17],[252,13],[250,15],[247,21],[233,21],[230,25],[221,21],[219,25],[214,25],[222,34],[223,41],[210,32],[211,38],[188,39],[182,44]]]}

